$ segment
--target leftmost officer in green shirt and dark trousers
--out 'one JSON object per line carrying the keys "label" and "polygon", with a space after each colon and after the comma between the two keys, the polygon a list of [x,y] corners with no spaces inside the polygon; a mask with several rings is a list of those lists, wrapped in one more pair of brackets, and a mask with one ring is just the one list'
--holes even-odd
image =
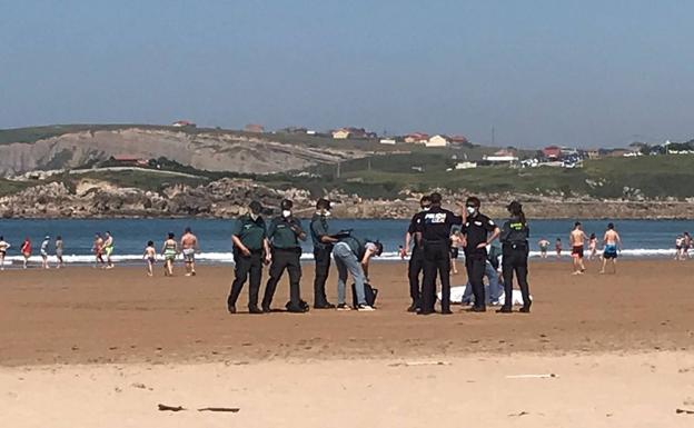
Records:
{"label": "leftmost officer in green shirt and dark trousers", "polygon": [[234,242],[234,282],[227,299],[227,308],[230,313],[236,313],[236,301],[241,293],[241,288],[246,280],[250,278],[248,288],[248,311],[250,313],[262,313],[258,308],[258,292],[262,278],[262,263],[268,263],[271,259],[265,220],[260,217],[262,206],[254,200],[248,206],[248,213],[241,216],[231,231]]}

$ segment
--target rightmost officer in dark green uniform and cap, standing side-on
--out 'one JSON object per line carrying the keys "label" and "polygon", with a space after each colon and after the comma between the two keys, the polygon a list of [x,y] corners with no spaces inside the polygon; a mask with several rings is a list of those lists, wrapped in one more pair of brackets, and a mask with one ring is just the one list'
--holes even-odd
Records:
{"label": "rightmost officer in dark green uniform and cap, standing side-on", "polygon": [[523,308],[520,312],[529,312],[531,291],[527,283],[527,258],[528,258],[528,237],[531,229],[525,220],[523,206],[518,201],[513,201],[506,207],[510,213],[510,218],[504,222],[502,227],[502,259],[504,275],[504,293],[506,299],[504,306],[497,312],[509,313],[513,306],[513,275],[516,272],[518,287],[523,295]]}

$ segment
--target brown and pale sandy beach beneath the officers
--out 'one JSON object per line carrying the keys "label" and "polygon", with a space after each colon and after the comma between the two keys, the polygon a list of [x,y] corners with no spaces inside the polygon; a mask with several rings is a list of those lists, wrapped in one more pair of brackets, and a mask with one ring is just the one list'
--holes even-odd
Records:
{"label": "brown and pale sandy beach beneath the officers", "polygon": [[[626,260],[616,276],[592,262],[581,277],[567,260],[535,262],[533,313],[510,316],[407,313],[405,270],[371,267],[380,290],[371,313],[262,316],[227,313],[231,267],[200,267],[192,278],[133,267],[0,272],[3,425],[694,422],[675,412],[694,410],[691,262]],[[307,265],[307,300],[311,280]],[[333,301],[335,280],[333,271]],[[275,306],[287,296],[282,281]]]}

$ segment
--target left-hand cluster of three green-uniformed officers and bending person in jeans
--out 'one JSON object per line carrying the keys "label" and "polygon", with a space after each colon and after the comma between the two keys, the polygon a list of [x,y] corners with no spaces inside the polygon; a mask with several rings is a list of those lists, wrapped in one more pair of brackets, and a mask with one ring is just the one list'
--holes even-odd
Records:
{"label": "left-hand cluster of three green-uniformed officers and bending person in jeans", "polygon": [[[331,233],[328,219],[330,217],[330,201],[319,199],[316,212],[310,220],[310,232],[307,233],[301,221],[294,216],[294,202],[285,199],[280,203],[281,212],[272,218],[269,226],[262,219],[264,207],[258,201],[251,201],[248,212],[238,218],[231,231],[234,242],[235,278],[227,298],[227,309],[236,313],[236,303],[248,281],[248,311],[250,313],[271,312],[272,298],[277,282],[287,270],[289,275],[289,301],[285,305],[289,312],[306,312],[309,306],[301,299],[301,241],[306,241],[310,233],[314,243],[314,259],[316,262],[314,279],[314,309],[341,309],[349,307],[345,302],[345,281],[350,273],[355,281],[354,293],[358,310],[373,310],[365,295],[368,282],[368,262],[371,257],[380,256],[383,246],[379,242],[364,240],[351,233],[340,231]],[[341,247],[339,247],[341,245]],[[338,246],[333,255],[334,247]],[[337,262],[338,305],[330,303],[326,297],[326,281],[330,270],[331,256]],[[269,279],[260,307],[258,298],[262,266],[269,265]]]}

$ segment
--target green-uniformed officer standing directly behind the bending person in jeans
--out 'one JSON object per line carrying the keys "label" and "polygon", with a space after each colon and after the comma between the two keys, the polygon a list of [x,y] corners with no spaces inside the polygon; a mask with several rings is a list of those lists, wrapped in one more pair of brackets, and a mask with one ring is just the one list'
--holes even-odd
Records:
{"label": "green-uniformed officer standing directly behind the bending person in jeans", "polygon": [[314,241],[314,260],[316,261],[316,278],[314,279],[314,308],[335,309],[325,293],[325,283],[330,271],[330,253],[337,238],[329,235],[328,218],[330,217],[330,201],[318,199],[316,213],[311,218],[310,235]]}

